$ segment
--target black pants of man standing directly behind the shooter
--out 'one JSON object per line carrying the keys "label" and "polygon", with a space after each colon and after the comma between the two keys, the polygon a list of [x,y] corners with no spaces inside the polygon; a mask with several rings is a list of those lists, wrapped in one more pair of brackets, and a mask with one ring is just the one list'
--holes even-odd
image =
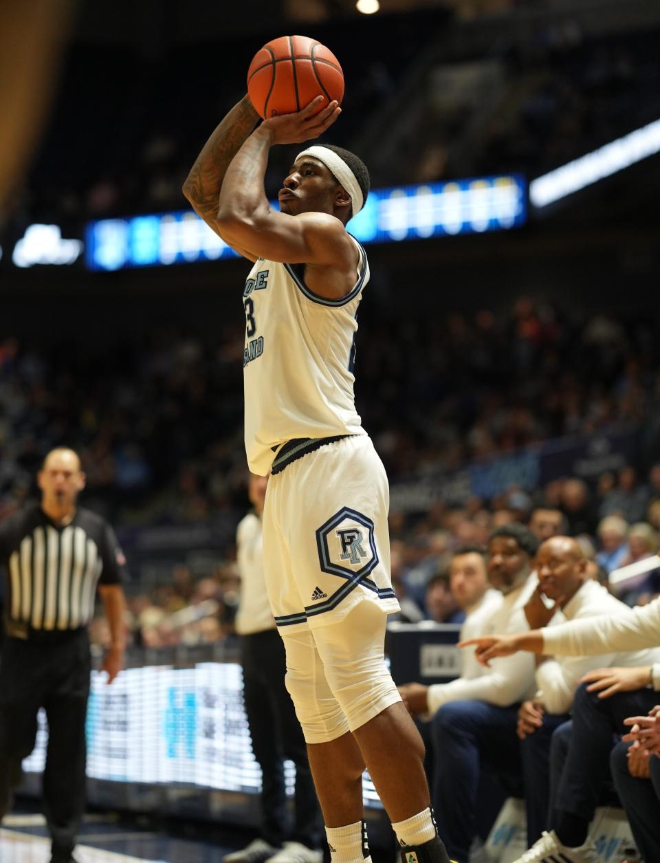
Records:
{"label": "black pants of man standing directly behind the shooter", "polygon": [[[284,642],[275,629],[241,637],[245,710],[252,750],[262,774],[261,815],[263,839],[280,846],[302,842],[317,848],[320,816],[311,778],[305,738],[291,696],[286,691]],[[283,760],[296,765],[295,815],[287,830]]]}

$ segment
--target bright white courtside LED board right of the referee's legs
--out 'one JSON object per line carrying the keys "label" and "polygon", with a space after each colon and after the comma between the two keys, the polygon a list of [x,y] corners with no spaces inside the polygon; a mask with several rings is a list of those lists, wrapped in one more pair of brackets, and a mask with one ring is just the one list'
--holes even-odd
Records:
{"label": "bright white courtside LED board right of the referee's legs", "polygon": [[[145,665],[122,671],[108,686],[92,671],[87,709],[87,776],[125,783],[186,784],[258,794],[261,769],[250,744],[241,665],[203,662],[189,668]],[[26,772],[42,772],[47,721],[39,714]],[[286,791],[295,767],[285,762]],[[364,802],[381,808],[365,773]]]}

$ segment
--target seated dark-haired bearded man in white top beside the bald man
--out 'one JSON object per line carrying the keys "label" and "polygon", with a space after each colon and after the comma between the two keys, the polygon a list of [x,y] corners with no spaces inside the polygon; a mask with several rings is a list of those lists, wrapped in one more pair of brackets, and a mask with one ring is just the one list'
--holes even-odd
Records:
{"label": "seated dark-haired bearded man in white top beside the bald man", "polygon": [[[491,534],[487,573],[502,598],[500,608],[483,622],[482,632],[496,632],[499,627],[510,633],[529,629],[525,605],[537,585],[531,575],[537,546],[534,534],[519,524],[502,526]],[[433,805],[448,854],[461,863],[468,860],[476,834],[481,765],[500,775],[520,775],[515,730],[519,704],[535,690],[534,667],[531,658],[514,666],[500,662],[476,677],[463,675],[428,689],[419,684],[403,688],[413,715],[431,714]]]}

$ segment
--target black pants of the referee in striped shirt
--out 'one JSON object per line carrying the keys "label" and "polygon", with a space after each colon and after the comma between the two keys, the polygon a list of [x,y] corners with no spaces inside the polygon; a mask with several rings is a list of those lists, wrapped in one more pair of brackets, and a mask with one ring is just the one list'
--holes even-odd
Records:
{"label": "black pants of the referee in striped shirt", "polygon": [[[44,814],[53,855],[72,853],[85,811],[85,717],[91,658],[85,628],[7,638],[0,653],[0,769],[35,747],[37,713],[46,710]],[[5,774],[6,775],[6,774]]]}

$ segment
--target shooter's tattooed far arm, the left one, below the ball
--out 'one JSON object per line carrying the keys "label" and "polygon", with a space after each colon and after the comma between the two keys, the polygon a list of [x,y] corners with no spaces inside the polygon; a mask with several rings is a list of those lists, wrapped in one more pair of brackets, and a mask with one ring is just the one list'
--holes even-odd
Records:
{"label": "shooter's tattooed far arm, the left one, below the ball", "polygon": [[[255,129],[259,115],[247,96],[234,105],[204,144],[183,185],[183,193],[192,209],[217,234],[217,200],[223,186],[224,175],[242,143]],[[230,245],[232,245],[230,243]],[[244,249],[234,246],[244,257],[256,260]]]}

